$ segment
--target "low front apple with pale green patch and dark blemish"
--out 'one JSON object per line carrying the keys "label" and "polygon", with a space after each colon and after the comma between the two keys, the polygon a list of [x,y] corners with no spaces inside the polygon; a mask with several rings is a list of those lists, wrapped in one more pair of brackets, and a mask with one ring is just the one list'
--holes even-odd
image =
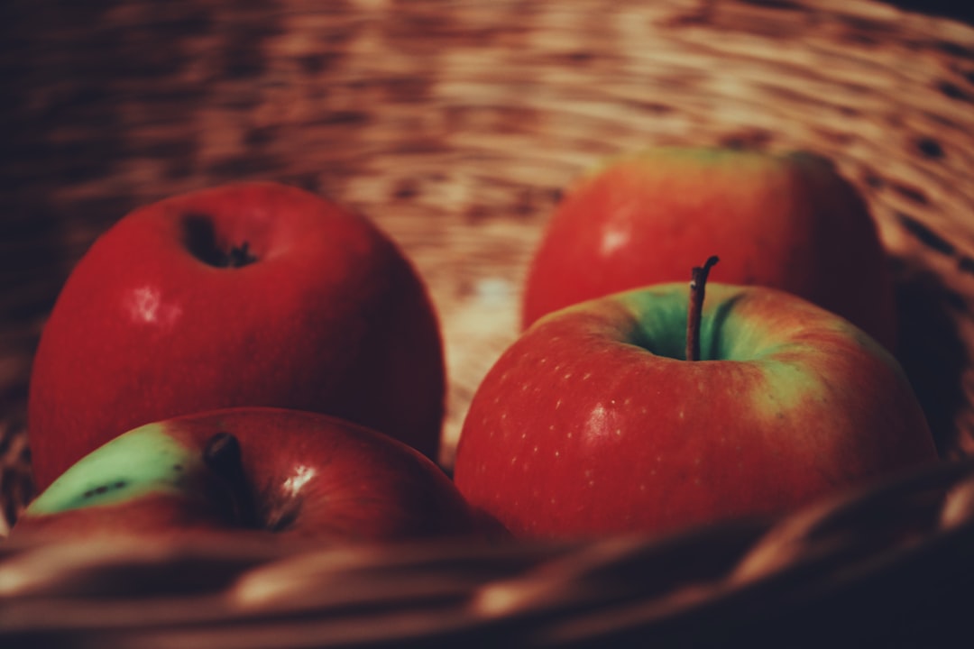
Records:
{"label": "low front apple with pale green patch and dark blemish", "polygon": [[11,538],[371,542],[475,535],[480,520],[438,466],[387,435],[328,415],[233,408],[112,439],[35,498]]}

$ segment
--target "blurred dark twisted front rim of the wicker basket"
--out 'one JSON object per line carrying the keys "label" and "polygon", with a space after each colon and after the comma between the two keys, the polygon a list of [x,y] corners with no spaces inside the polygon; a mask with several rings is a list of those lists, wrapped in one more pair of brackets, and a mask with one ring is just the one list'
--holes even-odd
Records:
{"label": "blurred dark twisted front rim of the wicker basket", "polygon": [[965,461],[776,525],[656,540],[0,546],[0,639],[10,649],[944,646],[967,631],[972,514]]}

